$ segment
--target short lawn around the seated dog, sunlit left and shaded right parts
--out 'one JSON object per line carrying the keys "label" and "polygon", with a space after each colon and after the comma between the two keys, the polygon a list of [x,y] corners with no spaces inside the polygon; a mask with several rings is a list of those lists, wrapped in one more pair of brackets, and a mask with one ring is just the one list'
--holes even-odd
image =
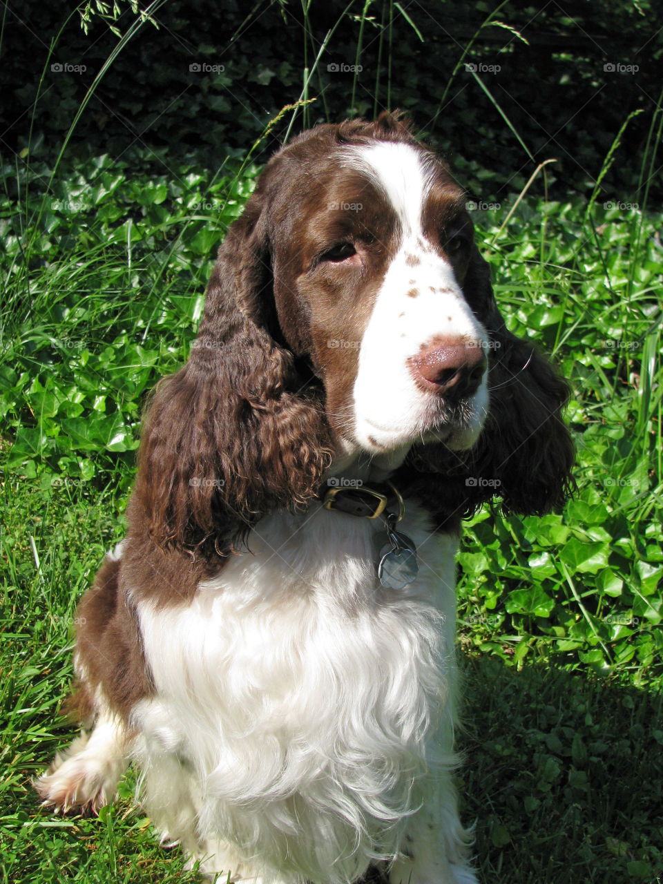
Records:
{"label": "short lawn around the seated dog, sunlit left and shaded right parts", "polygon": [[[4,484],[5,541],[13,542],[4,545],[0,880],[12,884],[195,880],[178,850],[156,846],[133,808],[132,778],[100,819],[54,817],[30,788],[72,735],[57,707],[71,677],[76,599],[122,535],[115,484]],[[477,820],[484,880],[652,880],[663,863],[660,695],[628,677],[509,665],[477,652],[474,629],[461,624],[461,793],[465,818]],[[510,644],[504,635],[505,651]]]}

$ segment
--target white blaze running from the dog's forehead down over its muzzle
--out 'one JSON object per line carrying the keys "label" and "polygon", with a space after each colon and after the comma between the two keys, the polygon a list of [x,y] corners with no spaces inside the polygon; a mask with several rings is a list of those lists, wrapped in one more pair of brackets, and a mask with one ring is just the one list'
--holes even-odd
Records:
{"label": "white blaze running from the dog's forehead down over its muzzle", "polygon": [[[422,212],[436,167],[409,144],[377,141],[350,148],[343,159],[385,195],[399,220],[398,247],[377,292],[362,337],[354,381],[354,437],[363,450],[402,450],[433,426],[446,444],[469,447],[488,405],[486,381],[469,398],[462,423],[439,424],[440,398],[420,389],[412,359],[438,340],[484,347],[486,331],[472,313],[453,267],[423,236]],[[444,406],[444,402],[442,402]]]}

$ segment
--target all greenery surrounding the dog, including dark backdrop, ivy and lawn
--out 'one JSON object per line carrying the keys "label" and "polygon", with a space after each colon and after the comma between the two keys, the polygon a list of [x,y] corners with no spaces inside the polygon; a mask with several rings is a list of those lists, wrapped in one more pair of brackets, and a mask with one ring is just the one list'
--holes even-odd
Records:
{"label": "all greenery surrounding the dog, including dark backdrop, ivy and lawn", "polygon": [[[252,163],[302,124],[387,104],[411,112],[476,194],[508,326],[573,386],[575,499],[543,519],[484,509],[463,534],[461,791],[482,877],[654,880],[663,248],[647,209],[661,193],[660,11],[302,9],[86,2],[86,37],[79,11],[65,23],[57,4],[26,0],[42,35],[62,26],[48,50],[13,8],[4,18],[4,143],[17,156],[0,162],[0,880],[198,880],[179,850],[156,848],[131,775],[98,820],[54,819],[30,777],[71,738],[57,707],[76,603],[124,534],[145,395],[187,358]],[[645,43],[637,77],[604,70]],[[51,70],[62,62],[87,70]],[[293,109],[300,95],[314,101]]]}

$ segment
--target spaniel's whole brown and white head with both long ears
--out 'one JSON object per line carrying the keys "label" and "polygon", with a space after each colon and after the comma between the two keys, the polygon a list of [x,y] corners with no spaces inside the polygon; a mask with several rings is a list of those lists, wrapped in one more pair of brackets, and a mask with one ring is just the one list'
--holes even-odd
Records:
{"label": "spaniel's whole brown and white head with both long ears", "polygon": [[227,546],[315,497],[334,454],[398,466],[447,516],[495,496],[520,513],[561,503],[568,388],[507,331],[465,202],[388,114],[272,157],[189,362],[149,409],[137,488],[153,537]]}

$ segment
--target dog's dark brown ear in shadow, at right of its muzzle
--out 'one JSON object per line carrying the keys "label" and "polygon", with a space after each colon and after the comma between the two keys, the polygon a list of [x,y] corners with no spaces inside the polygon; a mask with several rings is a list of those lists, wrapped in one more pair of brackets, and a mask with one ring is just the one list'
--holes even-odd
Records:
{"label": "dog's dark brown ear in shadow, at right of its muzzle", "polygon": [[419,471],[444,473],[441,510],[469,515],[485,500],[501,499],[507,512],[544,514],[561,507],[575,487],[574,448],[561,411],[567,382],[529,341],[507,331],[492,293],[490,268],[474,249],[463,290],[489,333],[489,413],[469,452],[420,446]]}

